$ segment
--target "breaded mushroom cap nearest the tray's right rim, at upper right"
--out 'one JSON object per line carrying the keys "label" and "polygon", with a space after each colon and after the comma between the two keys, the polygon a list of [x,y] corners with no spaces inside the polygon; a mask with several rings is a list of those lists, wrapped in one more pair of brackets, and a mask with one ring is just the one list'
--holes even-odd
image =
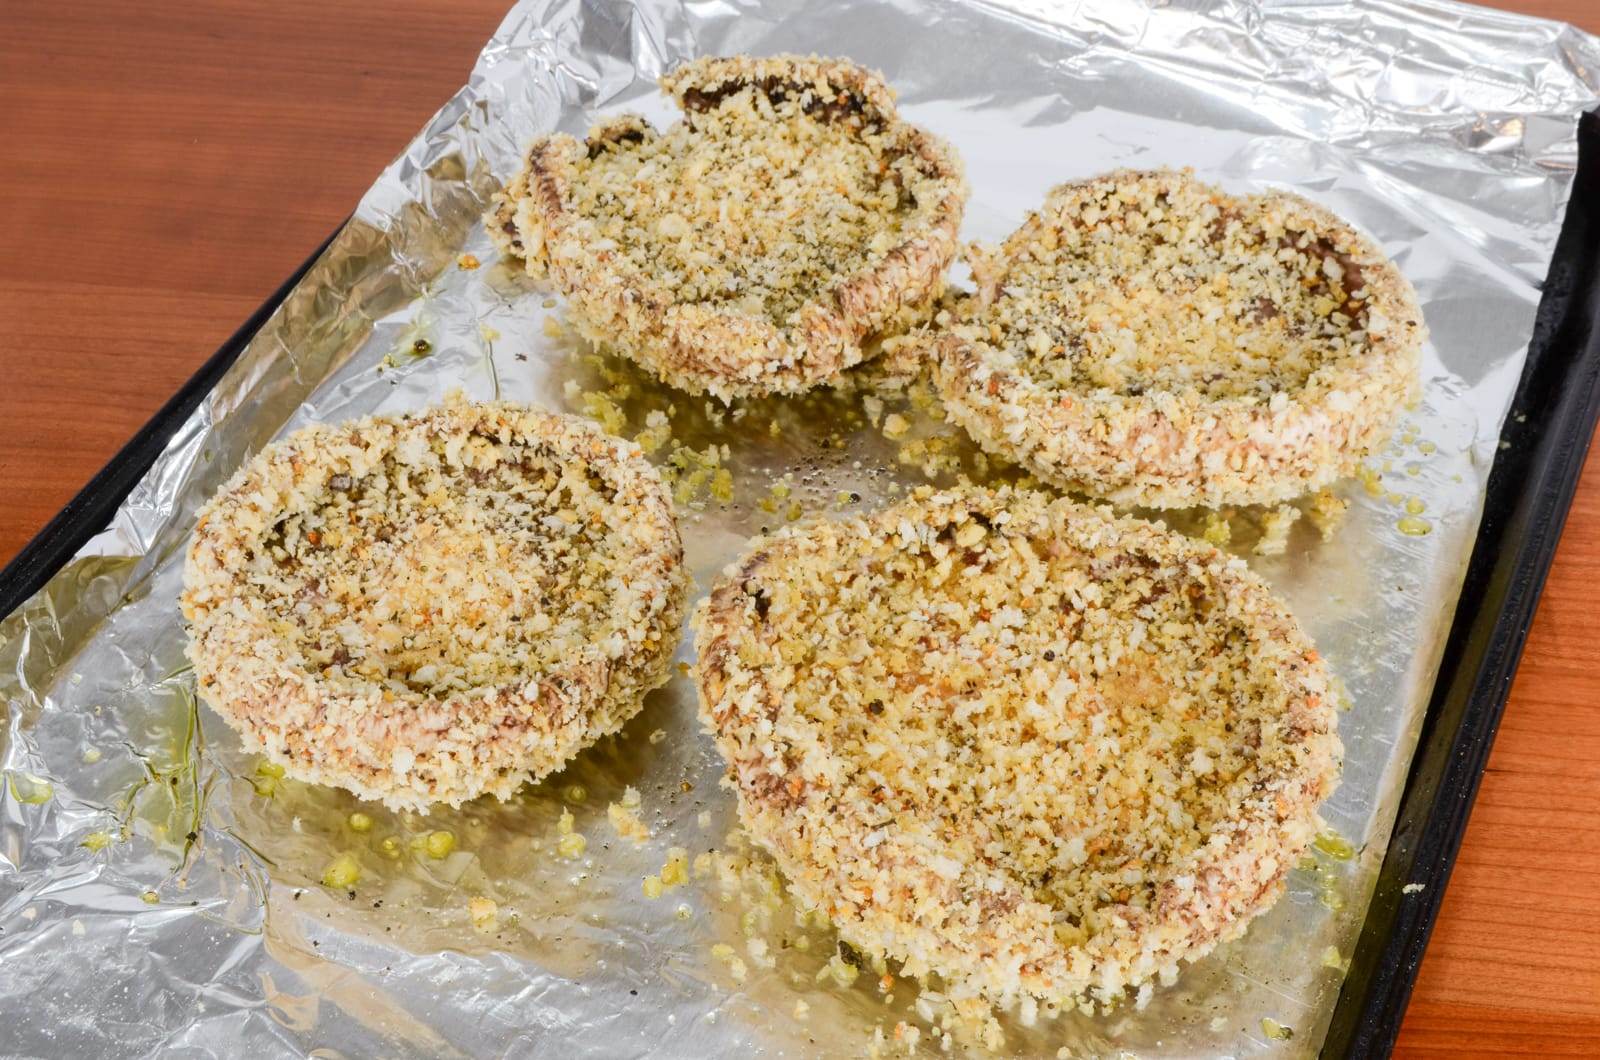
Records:
{"label": "breaded mushroom cap nearest the tray's right rim, at upper right", "polygon": [[1288,192],[1187,171],[1062,184],[931,343],[987,450],[1118,504],[1274,504],[1355,472],[1416,386],[1416,291]]}

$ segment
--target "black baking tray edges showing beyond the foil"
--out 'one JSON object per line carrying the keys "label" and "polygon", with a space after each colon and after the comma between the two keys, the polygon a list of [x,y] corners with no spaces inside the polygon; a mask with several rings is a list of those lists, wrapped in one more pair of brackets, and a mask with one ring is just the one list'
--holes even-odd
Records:
{"label": "black baking tray edges showing beyond the foil", "polygon": [[[110,522],[178,428],[334,235],[0,572],[0,616],[43,588]],[[1600,416],[1597,325],[1600,110],[1584,114],[1578,125],[1576,178],[1546,275],[1528,360],[1501,431],[1483,520],[1400,797],[1394,836],[1323,1041],[1325,1057],[1386,1055],[1400,1030]]]}

